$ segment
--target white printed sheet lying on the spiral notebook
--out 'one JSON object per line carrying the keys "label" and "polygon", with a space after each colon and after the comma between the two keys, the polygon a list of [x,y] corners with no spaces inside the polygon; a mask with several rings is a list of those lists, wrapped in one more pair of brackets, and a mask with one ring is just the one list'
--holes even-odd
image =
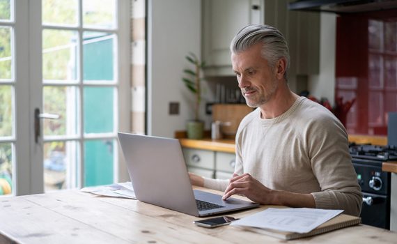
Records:
{"label": "white printed sheet lying on the spiral notebook", "polygon": [[231,225],[307,233],[342,212],[316,208],[267,208],[234,221]]}

